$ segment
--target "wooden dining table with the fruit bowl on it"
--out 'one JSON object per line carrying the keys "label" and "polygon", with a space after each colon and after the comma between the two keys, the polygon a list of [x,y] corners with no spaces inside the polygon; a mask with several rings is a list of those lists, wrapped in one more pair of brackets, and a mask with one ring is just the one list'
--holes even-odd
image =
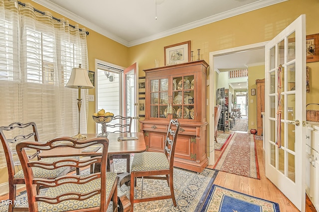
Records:
{"label": "wooden dining table with the fruit bowl on it", "polygon": [[[85,134],[87,139],[95,138],[98,134]],[[124,133],[109,133],[107,136],[109,140],[108,155],[113,154],[130,154],[139,153],[146,151],[146,144],[144,140],[143,132],[124,132]],[[120,138],[120,139],[119,139]],[[65,147],[57,147],[52,150],[44,151],[39,154],[40,158],[48,157],[69,157],[69,156],[89,156],[95,157],[102,154],[101,149],[74,149]],[[110,164],[113,166],[113,164]],[[130,173],[120,173],[118,174],[118,197],[120,212],[124,209],[130,208],[131,203],[128,197],[122,192],[121,187],[124,183],[130,181]]]}

